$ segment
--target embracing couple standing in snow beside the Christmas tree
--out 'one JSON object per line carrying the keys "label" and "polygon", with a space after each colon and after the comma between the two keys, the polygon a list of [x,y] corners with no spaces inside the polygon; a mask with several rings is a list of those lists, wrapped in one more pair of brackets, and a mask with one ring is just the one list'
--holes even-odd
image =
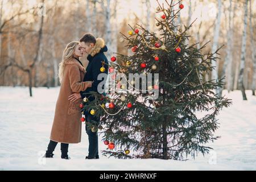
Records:
{"label": "embracing couple standing in snow beside the Christmas tree", "polygon": [[[105,42],[101,38],[94,38],[92,34],[85,34],[80,42],[71,42],[63,52],[63,60],[59,65],[60,93],[56,103],[55,117],[53,120],[50,142],[45,154],[46,158],[53,157],[53,151],[57,143],[61,143],[61,158],[70,159],[68,156],[69,143],[81,142],[81,108],[82,99],[89,97],[89,92],[98,92],[98,85],[106,81],[98,80],[101,67],[105,68],[108,75],[108,59],[104,52],[108,51]],[[79,60],[87,54],[89,64],[85,70]],[[86,123],[98,122],[100,118],[84,113]],[[92,132],[85,125],[89,138],[89,155],[86,159],[98,159],[98,133]]]}

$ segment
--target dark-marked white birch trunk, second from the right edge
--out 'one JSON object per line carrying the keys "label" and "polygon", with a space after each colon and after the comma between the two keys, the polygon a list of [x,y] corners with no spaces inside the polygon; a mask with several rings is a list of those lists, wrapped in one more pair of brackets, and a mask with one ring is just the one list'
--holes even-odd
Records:
{"label": "dark-marked white birch trunk, second from the right edge", "polygon": [[242,35],[242,51],[241,51],[241,63],[240,63],[240,73],[239,73],[239,88],[242,91],[243,100],[247,100],[246,94],[245,94],[245,86],[243,85],[243,72],[245,69],[245,56],[246,56],[246,28],[247,28],[247,9],[248,0],[245,1],[245,7],[244,7],[244,16],[243,16],[243,35]]}

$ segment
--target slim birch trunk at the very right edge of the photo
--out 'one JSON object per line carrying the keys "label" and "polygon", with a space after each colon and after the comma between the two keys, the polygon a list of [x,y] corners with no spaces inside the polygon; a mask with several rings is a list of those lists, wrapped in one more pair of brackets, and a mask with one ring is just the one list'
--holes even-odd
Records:
{"label": "slim birch trunk at the very right edge of the photo", "polygon": [[251,90],[253,91],[253,96],[255,96],[255,82],[256,82],[256,52],[255,52],[255,42],[253,34],[253,14],[251,13],[251,0],[250,0],[250,35],[251,35],[251,60],[253,61],[253,81],[251,83]]}

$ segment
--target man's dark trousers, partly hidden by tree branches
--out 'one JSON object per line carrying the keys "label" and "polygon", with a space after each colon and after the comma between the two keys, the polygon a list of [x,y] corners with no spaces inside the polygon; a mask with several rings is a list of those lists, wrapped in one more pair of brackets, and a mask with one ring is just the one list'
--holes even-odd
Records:
{"label": "man's dark trousers, partly hidden by tree branches", "polygon": [[[85,114],[86,122],[88,123],[94,123],[96,125],[99,125],[100,119],[95,117],[94,115],[87,113]],[[96,123],[95,123],[96,122]],[[98,155],[98,132],[92,132],[90,127],[88,125],[85,125],[85,131],[88,134],[89,139],[89,158],[96,158]]]}

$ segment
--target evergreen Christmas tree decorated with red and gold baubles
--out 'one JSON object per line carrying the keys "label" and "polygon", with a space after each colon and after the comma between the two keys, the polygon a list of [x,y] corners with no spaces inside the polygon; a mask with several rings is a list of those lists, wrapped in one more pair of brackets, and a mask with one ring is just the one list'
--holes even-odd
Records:
{"label": "evergreen Christmas tree decorated with red and gold baubles", "polygon": [[104,135],[106,156],[185,160],[206,154],[208,142],[218,138],[217,114],[231,102],[214,93],[222,79],[202,79],[218,53],[203,53],[206,44],[185,44],[192,24],[175,23],[184,6],[166,3],[167,9],[159,4],[156,11],[158,34],[139,24],[122,34],[133,55],[112,57],[109,93],[84,99],[82,110],[101,117],[100,126],[88,124]]}

